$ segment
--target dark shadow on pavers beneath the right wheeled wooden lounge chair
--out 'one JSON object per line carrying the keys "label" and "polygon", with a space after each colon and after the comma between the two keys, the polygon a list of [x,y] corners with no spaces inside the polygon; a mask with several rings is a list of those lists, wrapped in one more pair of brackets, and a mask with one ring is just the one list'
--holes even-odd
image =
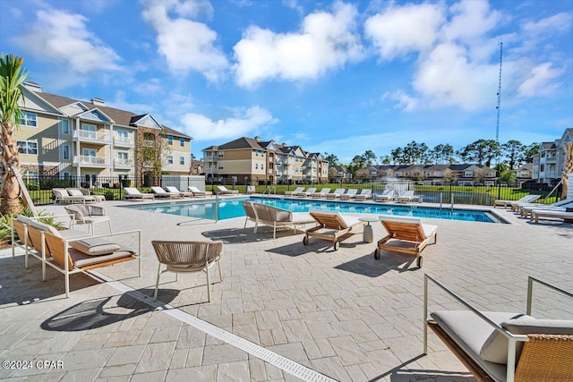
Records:
{"label": "dark shadow on pavers beneath the right wheeled wooden lounge chair", "polygon": [[374,254],[371,252],[361,258],[340,264],[335,268],[358,275],[378,277],[390,271],[402,273],[418,270],[418,267],[411,267],[413,263],[415,263],[415,256],[382,250],[381,259],[379,260],[374,259]]}

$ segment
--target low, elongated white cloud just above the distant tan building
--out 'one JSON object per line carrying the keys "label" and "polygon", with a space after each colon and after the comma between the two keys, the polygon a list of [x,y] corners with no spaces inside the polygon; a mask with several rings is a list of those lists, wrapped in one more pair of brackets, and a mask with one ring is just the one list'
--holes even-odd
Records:
{"label": "low, elongated white cloud just above the distant tan building", "polygon": [[184,130],[193,140],[227,140],[251,132],[259,131],[278,119],[260,106],[252,106],[246,110],[235,110],[235,115],[225,120],[213,121],[205,115],[188,113],[181,117]]}

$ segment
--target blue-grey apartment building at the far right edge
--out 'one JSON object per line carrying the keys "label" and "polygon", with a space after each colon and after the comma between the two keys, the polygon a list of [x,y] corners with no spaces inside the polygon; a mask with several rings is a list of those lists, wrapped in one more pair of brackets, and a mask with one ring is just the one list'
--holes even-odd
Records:
{"label": "blue-grey apartment building at the far right edge", "polygon": [[559,140],[542,142],[533,158],[532,178],[538,183],[558,183],[565,167],[565,146],[573,140],[573,128],[566,129]]}

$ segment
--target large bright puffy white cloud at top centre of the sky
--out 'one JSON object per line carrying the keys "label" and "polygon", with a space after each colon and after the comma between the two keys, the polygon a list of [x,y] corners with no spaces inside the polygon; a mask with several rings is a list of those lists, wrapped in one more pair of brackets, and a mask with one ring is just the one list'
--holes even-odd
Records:
{"label": "large bright puffy white cloud at top centre of the sky", "polygon": [[235,47],[235,81],[253,88],[262,81],[313,80],[363,55],[355,32],[354,5],[335,3],[332,13],[316,12],[304,18],[297,33],[274,33],[251,26]]}

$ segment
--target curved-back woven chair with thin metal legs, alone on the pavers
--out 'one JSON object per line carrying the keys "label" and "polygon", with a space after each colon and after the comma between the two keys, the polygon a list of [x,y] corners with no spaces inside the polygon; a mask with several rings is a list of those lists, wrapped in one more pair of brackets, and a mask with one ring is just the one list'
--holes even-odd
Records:
{"label": "curved-back woven chair with thin metal legs, alone on the pavers", "polygon": [[[159,276],[164,272],[193,273],[205,272],[207,276],[207,301],[211,301],[209,268],[215,263],[218,266],[218,276],[223,282],[221,273],[221,253],[223,242],[151,242],[159,260],[158,277],[155,283],[153,298],[158,298]],[[167,268],[162,272],[161,266]]]}

